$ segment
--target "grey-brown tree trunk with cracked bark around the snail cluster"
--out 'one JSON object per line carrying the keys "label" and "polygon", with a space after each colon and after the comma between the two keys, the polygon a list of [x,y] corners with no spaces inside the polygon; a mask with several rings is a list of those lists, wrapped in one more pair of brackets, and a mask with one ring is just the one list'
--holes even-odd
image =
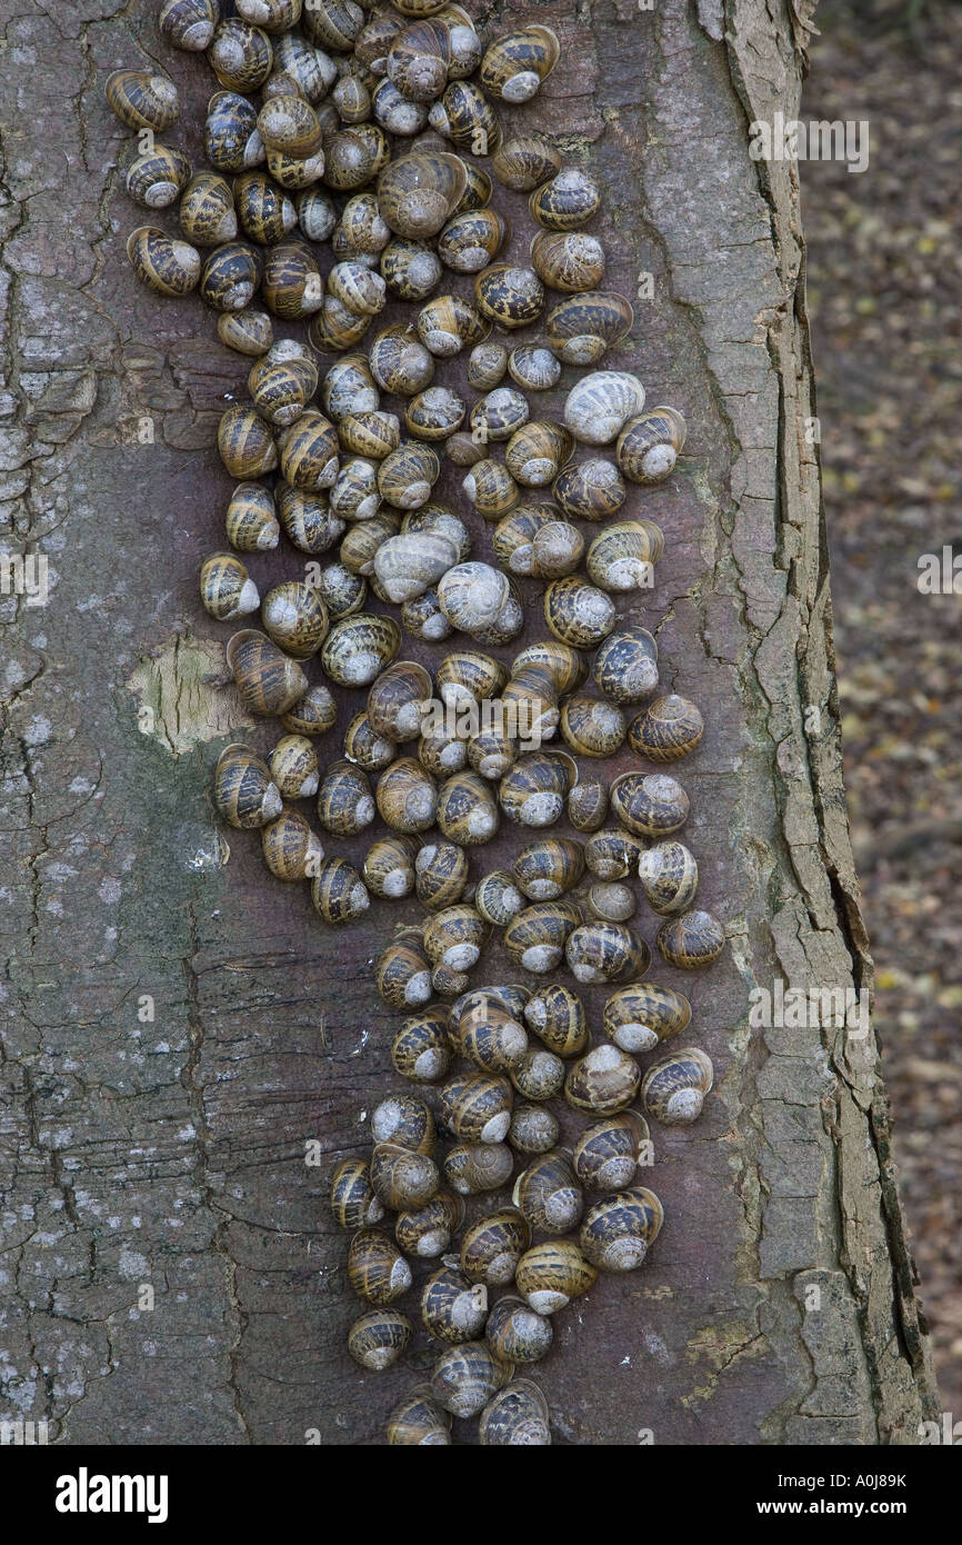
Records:
{"label": "grey-brown tree trunk with cracked bark around the snail cluster", "polygon": [[[196,572],[224,544],[213,439],[246,369],[196,298],[136,286],[124,241],[142,221],[103,100],[108,70],[159,62],[199,159],[212,77],[147,0],[3,9],[5,545],[48,558],[49,601],[2,598],[0,1415],[45,1417],[63,1443],[380,1441],[431,1355],[418,1343],[377,1380],[347,1358],[326,1182],[394,1086],[372,959],[420,908],[332,933],[256,834],[230,833],[227,861],[213,762],[224,735],[267,746],[270,729],[208,680],[229,629]],[[666,530],[655,590],[621,610],[706,715],[686,840],[729,939],[693,981],[656,972],[692,997],[716,1092],[696,1126],[656,1134],[667,1221],[644,1270],[559,1316],[537,1369],[556,1441],[913,1443],[936,1411],[872,1035],[749,1024],[777,981],[871,990],[797,167],[747,153],[752,121],[797,113],[806,14],[511,0],[488,22],[562,36],[519,121],[601,175],[608,283],[638,295],[613,363],[689,422],[679,476],[644,508]],[[508,205],[522,256],[523,199]],[[451,470],[439,494],[462,507]],[[256,578],[296,570],[287,550]],[[544,632],[534,616],[525,641]],[[480,850],[474,876],[510,851]],[[489,980],[505,969],[493,952]]]}

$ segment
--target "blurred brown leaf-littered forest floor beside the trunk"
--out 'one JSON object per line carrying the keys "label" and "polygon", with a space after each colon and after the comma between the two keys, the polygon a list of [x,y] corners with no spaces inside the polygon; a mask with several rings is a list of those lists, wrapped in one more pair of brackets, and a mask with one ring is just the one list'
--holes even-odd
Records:
{"label": "blurred brown leaf-littered forest floor beside the trunk", "polygon": [[815,22],[803,121],[871,124],[865,173],[800,168],[849,814],[902,1196],[960,1418],[962,596],[917,579],[920,555],[962,555],[962,5],[826,0]]}

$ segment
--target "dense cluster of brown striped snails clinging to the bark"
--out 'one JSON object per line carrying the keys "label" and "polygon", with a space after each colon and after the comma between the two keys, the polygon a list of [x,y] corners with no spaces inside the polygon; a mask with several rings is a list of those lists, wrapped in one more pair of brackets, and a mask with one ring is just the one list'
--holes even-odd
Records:
{"label": "dense cluster of brown striped snails clinging to the bark", "polygon": [[[547,1443],[544,1397],[513,1367],[544,1357],[550,1316],[598,1270],[639,1265],[662,1222],[636,1185],[650,1137],[630,1106],[686,1125],[713,1077],[696,1048],[667,1048],[644,1074],[635,1060],[679,1037],[690,1006],[639,981],[652,952],[632,927],[632,881],[664,919],[667,964],[709,966],[724,944],[695,905],[698,867],[678,839],[687,796],[661,771],[699,743],[701,714],[659,694],[655,638],[616,610],[618,595],[650,587],[664,550],[659,525],[622,507],[670,476],[686,423],[645,406],[636,375],[604,368],[633,309],[605,287],[604,249],[584,229],[598,184],[544,134],[502,128],[500,111],[531,100],[557,63],[548,26],[483,43],[446,0],[165,0],[159,26],[205,54],[219,90],[195,170],[159,138],[178,119],[173,82],[144,70],[108,79],[137,136],[127,192],[178,218],[176,230],[139,227],[127,250],[158,294],[196,289],[221,341],[252,362],[247,399],[218,430],[235,482],[227,547],[199,584],[219,623],[259,613],[259,627],[232,633],[227,667],[247,711],[283,731],[266,756],[225,748],[215,803],[259,831],[278,879],[310,884],[323,922],[351,922],[372,898],[411,896],[426,912],[380,953],[377,989],[405,1015],[395,1071],[422,1092],[437,1086],[437,1108],[386,1100],[371,1162],[347,1159],[334,1176],[349,1279],[369,1304],[349,1350],[371,1370],[397,1361],[414,1333],[397,1307],[412,1284],[406,1256],[440,1259],[422,1319],[442,1357],[392,1414],[389,1441],[449,1443],[452,1415],[477,1414],[482,1443]],[[496,184],[528,196],[528,264],[503,258]],[[409,320],[378,323],[388,304],[411,306]],[[279,323],[301,335],[275,337]],[[520,329],[537,335],[517,341]],[[435,380],[462,355],[473,403]],[[559,388],[565,366],[581,374],[562,409],[533,411],[531,394]],[[489,561],[434,497],[443,459],[462,470]],[[303,567],[261,593],[249,565],[281,535]],[[488,650],[520,633],[523,579],[545,581],[550,637],[503,661]],[[456,638],[434,669],[401,658],[405,635],[457,633],[468,646]],[[343,754],[323,760],[332,688],[366,697]],[[428,712],[439,705],[440,723]],[[594,771],[625,748],[656,771]],[[355,867],[326,854],[301,800],[334,839],[386,833]],[[525,839],[513,868],[473,876],[471,851],[502,819]],[[545,834],[562,820],[576,836]],[[540,986],[471,990],[494,929]],[[578,992],[544,984],[561,969],[611,989],[599,1044]],[[593,1117],[573,1149],[548,1106],[557,1097]],[[440,1162],[439,1128],[454,1142]],[[527,1168],[513,1205],[469,1222],[449,1255],[465,1197],[505,1185],[516,1154]],[[377,1227],[384,1210],[394,1241]],[[578,1242],[564,1238],[578,1227]],[[550,1238],[533,1244],[537,1231]],[[511,1284],[488,1309],[488,1289]]]}

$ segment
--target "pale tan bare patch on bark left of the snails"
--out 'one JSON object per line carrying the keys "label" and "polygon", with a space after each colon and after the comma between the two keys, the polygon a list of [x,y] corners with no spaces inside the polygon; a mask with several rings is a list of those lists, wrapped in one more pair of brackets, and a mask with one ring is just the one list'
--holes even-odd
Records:
{"label": "pale tan bare patch on bark left of the snails", "polygon": [[222,684],[224,677],[224,650],[218,644],[174,633],[139,661],[125,684],[141,700],[142,732],[182,757],[205,740],[253,723],[233,688]]}

